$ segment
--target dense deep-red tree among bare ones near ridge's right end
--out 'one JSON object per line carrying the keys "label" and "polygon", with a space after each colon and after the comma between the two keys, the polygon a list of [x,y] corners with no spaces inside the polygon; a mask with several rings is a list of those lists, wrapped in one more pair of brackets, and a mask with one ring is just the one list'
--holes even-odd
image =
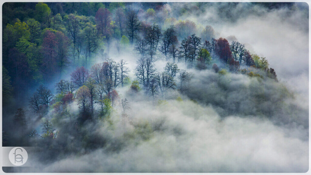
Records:
{"label": "dense deep-red tree among bare ones near ridge's right end", "polygon": [[216,40],[215,53],[220,60],[225,63],[230,63],[232,55],[230,50],[230,44],[228,43],[227,39],[219,38]]}

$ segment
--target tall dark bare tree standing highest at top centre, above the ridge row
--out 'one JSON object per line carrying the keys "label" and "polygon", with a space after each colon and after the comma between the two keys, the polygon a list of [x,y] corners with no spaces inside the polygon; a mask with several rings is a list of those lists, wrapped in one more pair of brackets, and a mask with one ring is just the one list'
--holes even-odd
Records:
{"label": "tall dark bare tree standing highest at top centre, above the ridge row", "polygon": [[128,12],[126,21],[126,32],[132,45],[134,39],[137,38],[137,33],[139,31],[140,24],[141,22],[138,20],[136,12],[133,10]]}

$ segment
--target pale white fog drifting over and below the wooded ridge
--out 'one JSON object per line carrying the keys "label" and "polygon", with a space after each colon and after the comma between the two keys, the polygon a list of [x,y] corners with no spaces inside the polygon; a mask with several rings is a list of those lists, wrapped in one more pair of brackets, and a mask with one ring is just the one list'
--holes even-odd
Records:
{"label": "pale white fog drifting over and below the wooded ridge", "polygon": [[[143,91],[131,94],[129,86],[118,87],[119,96],[129,100],[126,115],[117,102],[109,120],[86,123],[78,131],[72,129],[74,117],[55,119],[59,136],[56,143],[49,145],[53,149],[47,154],[38,153],[34,160],[36,167],[25,167],[23,171],[307,172],[309,19],[306,3],[296,3],[294,11],[289,7],[269,10],[249,3],[232,7],[227,3],[202,5],[206,6],[205,13],[181,16],[174,16],[176,9],[191,8],[191,4],[169,3],[167,8],[172,10],[171,17],[190,19],[198,26],[211,25],[217,38],[234,36],[252,53],[266,57],[279,82],[229,71],[220,75],[210,68],[187,69],[184,62],[179,62],[179,69],[187,69],[193,77],[185,93],[172,90],[167,97],[153,99]],[[230,9],[226,15],[231,17],[219,12],[223,8]],[[117,55],[111,47],[109,58],[126,60],[130,79],[135,80],[138,54],[130,46],[126,49]],[[157,57],[155,67],[160,72],[166,61],[160,53]],[[102,62],[101,58],[93,61],[97,62]],[[263,71],[254,71],[264,75]],[[69,75],[64,77],[70,79]],[[53,109],[44,118],[52,119],[52,112]],[[78,112],[77,104],[73,103],[72,115]],[[42,120],[32,122],[38,126]]]}

